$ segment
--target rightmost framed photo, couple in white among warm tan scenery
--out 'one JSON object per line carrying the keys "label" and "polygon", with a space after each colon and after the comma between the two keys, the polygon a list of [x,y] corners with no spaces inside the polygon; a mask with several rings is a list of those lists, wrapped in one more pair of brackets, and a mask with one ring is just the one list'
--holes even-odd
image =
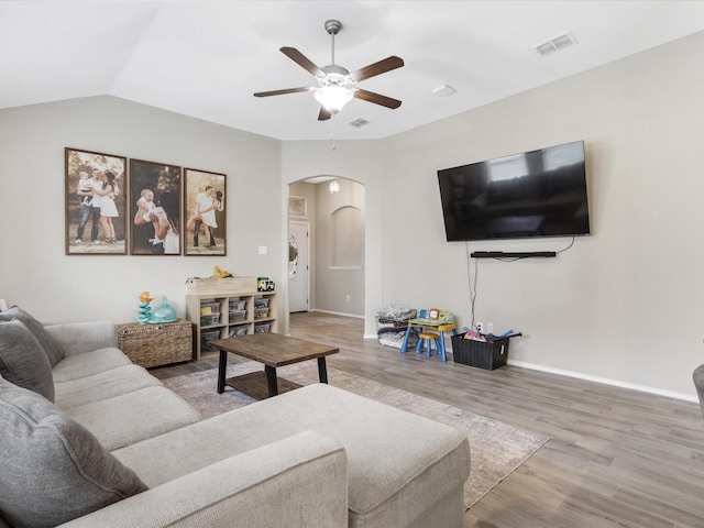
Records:
{"label": "rightmost framed photo, couple in white among warm tan scenery", "polygon": [[227,255],[226,179],[220,173],[184,169],[184,254]]}

